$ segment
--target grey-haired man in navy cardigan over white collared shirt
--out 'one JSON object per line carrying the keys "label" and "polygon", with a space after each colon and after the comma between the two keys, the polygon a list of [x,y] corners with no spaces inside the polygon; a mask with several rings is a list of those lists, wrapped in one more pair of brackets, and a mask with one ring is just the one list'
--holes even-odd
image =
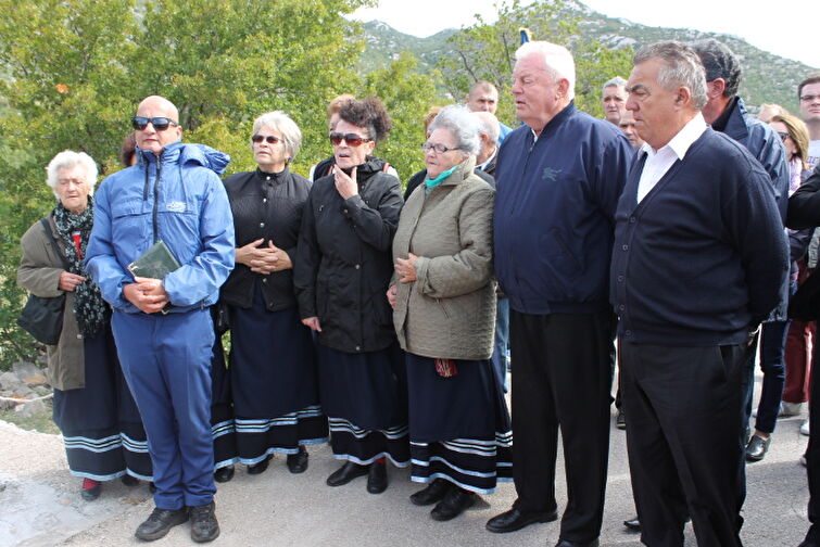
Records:
{"label": "grey-haired man in navy cardigan over white collared shirt", "polygon": [[642,542],[740,546],[742,382],[749,340],[780,300],[789,253],[768,174],[710,129],[696,53],[635,54],[627,110],[646,143],[616,213],[610,300]]}

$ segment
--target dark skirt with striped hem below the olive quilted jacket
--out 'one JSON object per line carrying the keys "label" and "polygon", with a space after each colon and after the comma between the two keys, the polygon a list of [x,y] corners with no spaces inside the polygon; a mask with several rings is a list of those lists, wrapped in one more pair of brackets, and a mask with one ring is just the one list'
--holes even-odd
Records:
{"label": "dark skirt with striped hem below the olive quilted jacket", "polygon": [[513,480],[513,432],[492,361],[454,360],[444,378],[434,359],[406,354],[409,397],[411,479],[444,479],[491,494]]}

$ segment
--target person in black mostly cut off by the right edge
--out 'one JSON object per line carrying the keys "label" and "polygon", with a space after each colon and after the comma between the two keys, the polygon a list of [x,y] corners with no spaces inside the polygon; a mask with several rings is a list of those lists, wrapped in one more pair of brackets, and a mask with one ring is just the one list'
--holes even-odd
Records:
{"label": "person in black mostly cut off by the right edge", "polygon": [[[794,230],[820,226],[820,165],[815,167],[804,185],[789,199],[786,225]],[[815,360],[818,359],[818,353],[820,353],[820,347],[816,345]],[[820,423],[818,412],[820,412],[820,382],[811,382],[810,421]],[[806,533],[806,538],[797,547],[820,547],[820,438],[817,435],[809,435],[809,445],[804,458],[808,471],[808,518],[811,525]]]}

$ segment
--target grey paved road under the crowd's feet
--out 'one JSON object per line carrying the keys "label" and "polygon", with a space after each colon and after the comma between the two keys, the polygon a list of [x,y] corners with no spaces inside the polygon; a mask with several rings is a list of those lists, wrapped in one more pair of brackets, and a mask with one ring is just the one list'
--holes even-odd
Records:
{"label": "grey paved road under the crowd's feet", "polygon": [[[758,384],[759,384],[759,378]],[[805,417],[805,415],[804,415]],[[747,547],[796,547],[808,523],[805,469],[798,458],[807,437],[798,432],[802,418],[780,420],[771,450],[762,462],[747,466],[748,497],[742,537]],[[625,435],[613,427],[609,481],[602,546],[640,546],[636,534],[621,522],[634,512],[626,458]],[[106,484],[92,503],[80,499],[79,481],[68,476],[60,438],[22,432],[0,423],[0,545],[123,546],[144,545],[134,530],[153,508],[146,485],[128,488]],[[563,466],[563,463],[559,463]],[[419,486],[407,470],[391,469],[390,487],[368,494],[365,479],[338,488],[325,479],[338,467],[326,446],[311,451],[302,475],[288,473],[285,459],[275,458],[268,470],[248,475],[239,466],[236,478],[219,485],[216,495],[223,547],[248,546],[553,546],[558,524],[538,524],[514,534],[484,531],[484,522],[506,510],[515,498],[512,484],[484,496],[464,516],[436,522],[428,508],[413,506],[407,496]],[[559,472],[563,479],[563,473]],[[558,481],[559,506],[566,503]],[[153,545],[194,545],[186,525],[177,526]],[[691,527],[686,546],[696,542]]]}

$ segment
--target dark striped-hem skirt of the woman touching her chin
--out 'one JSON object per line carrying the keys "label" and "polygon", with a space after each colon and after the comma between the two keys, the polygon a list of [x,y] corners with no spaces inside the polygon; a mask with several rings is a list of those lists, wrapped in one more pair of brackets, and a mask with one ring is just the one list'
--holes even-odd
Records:
{"label": "dark striped-hem skirt of the woman touching her chin", "polygon": [[317,345],[321,406],[333,457],[368,465],[388,458],[409,463],[407,384],[399,343],[349,354]]}

